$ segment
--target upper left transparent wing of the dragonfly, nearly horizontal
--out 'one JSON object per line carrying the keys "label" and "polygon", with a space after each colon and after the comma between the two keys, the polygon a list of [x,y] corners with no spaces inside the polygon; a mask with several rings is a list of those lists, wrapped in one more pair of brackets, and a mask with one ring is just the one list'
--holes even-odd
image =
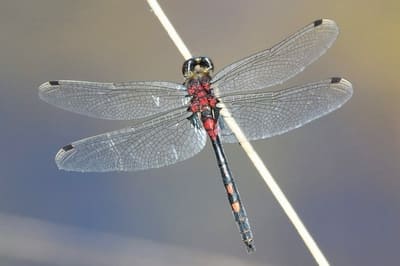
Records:
{"label": "upper left transparent wing of the dragonfly, nearly horizontal", "polygon": [[39,97],[75,113],[113,120],[132,120],[185,106],[186,88],[158,81],[99,83],[49,81],[39,87]]}

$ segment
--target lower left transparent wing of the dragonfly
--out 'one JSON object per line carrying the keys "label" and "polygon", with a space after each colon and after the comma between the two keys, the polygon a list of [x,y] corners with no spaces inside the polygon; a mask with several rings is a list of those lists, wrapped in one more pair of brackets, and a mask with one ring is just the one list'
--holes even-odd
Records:
{"label": "lower left transparent wing of the dragonfly", "polygon": [[81,172],[137,171],[186,160],[206,143],[186,110],[175,110],[138,126],[75,141],[56,155],[60,169]]}

